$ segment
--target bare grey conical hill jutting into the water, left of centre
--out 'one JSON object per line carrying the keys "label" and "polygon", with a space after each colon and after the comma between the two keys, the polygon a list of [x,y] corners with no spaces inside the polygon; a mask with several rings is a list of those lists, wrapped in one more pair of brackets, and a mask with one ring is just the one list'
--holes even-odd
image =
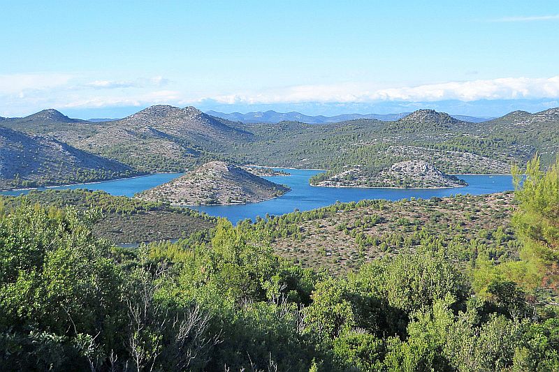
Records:
{"label": "bare grey conical hill jutting into the water, left of centre", "polygon": [[136,196],[177,205],[242,204],[275,198],[287,191],[286,186],[274,184],[236,165],[212,161]]}

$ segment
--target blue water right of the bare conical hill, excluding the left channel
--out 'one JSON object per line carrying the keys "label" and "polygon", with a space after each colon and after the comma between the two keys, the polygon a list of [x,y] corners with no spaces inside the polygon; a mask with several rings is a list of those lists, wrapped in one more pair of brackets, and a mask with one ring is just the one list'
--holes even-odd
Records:
{"label": "blue water right of the bare conical hill, excluding the left channel", "polygon": [[291,191],[279,198],[266,200],[266,202],[236,204],[236,205],[201,205],[191,207],[204,211],[211,216],[228,218],[232,223],[256,216],[264,217],[266,214],[290,213],[296,209],[308,211],[335,202],[357,202],[363,199],[400,200],[409,198],[428,199],[458,194],[482,195],[513,190],[512,177],[509,175],[470,175],[458,174],[469,186],[459,188],[334,188],[313,187],[309,178],[318,174],[320,170],[298,170],[287,168],[274,168],[284,170],[290,176],[263,177],[277,184],[285,184]]}

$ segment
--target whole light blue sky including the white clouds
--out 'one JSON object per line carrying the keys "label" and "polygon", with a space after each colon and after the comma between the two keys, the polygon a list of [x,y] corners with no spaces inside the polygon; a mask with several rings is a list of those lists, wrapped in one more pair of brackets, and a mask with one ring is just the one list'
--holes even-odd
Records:
{"label": "whole light blue sky including the white clouds", "polygon": [[559,106],[559,1],[0,0],[0,116]]}

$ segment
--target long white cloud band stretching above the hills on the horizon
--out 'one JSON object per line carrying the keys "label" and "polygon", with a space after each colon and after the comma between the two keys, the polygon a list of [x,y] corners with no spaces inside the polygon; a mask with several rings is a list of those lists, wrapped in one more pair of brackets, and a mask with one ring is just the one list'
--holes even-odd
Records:
{"label": "long white cloud band stretching above the hills on the horizon", "polygon": [[[161,89],[165,86],[165,89]],[[198,87],[198,91],[200,91]],[[266,91],[196,95],[180,82],[164,77],[135,80],[84,80],[70,74],[0,75],[0,114],[17,115],[45,107],[119,107],[157,103],[222,105],[277,103],[372,103],[382,101],[437,102],[447,100],[513,100],[559,98],[559,75],[502,77],[422,84],[414,87],[375,87],[375,84],[307,84]],[[17,112],[14,112],[17,111]]]}

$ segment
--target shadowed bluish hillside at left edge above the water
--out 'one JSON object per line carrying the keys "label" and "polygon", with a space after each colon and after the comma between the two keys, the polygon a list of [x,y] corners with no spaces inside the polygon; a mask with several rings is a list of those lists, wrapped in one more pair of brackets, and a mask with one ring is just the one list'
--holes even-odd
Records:
{"label": "shadowed bluish hillside at left edge above the water", "polygon": [[0,188],[75,184],[130,177],[127,165],[44,135],[0,127]]}

